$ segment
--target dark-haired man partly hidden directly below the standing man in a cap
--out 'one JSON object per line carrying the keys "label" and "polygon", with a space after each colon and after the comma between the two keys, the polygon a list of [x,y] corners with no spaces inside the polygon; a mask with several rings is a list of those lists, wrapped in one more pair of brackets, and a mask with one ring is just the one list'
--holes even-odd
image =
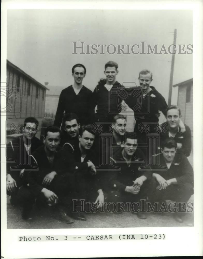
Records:
{"label": "dark-haired man partly hidden directly below the standing man in a cap", "polygon": [[60,146],[63,146],[66,142],[72,145],[78,144],[79,135],[79,119],[75,113],[67,113],[63,117],[62,122],[62,138]]}

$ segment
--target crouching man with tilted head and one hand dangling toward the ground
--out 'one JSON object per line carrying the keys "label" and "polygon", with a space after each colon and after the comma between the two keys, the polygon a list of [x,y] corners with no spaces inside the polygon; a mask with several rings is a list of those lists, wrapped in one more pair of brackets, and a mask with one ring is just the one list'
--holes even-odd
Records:
{"label": "crouching man with tilted head and one hand dangling toward the ground", "polygon": [[95,202],[98,202],[98,207],[101,207],[104,202],[104,194],[96,176],[95,165],[97,164],[97,159],[95,152],[92,150],[94,140],[95,133],[92,131],[91,125],[83,125],[79,129],[78,145],[73,147],[70,143],[65,143],[63,148],[68,152],[67,156],[72,161],[72,166],[77,171],[80,171],[81,176],[85,175],[83,183],[80,182],[78,177],[78,185],[83,185],[82,188],[85,188],[87,198],[89,196],[90,200],[92,200],[92,196],[95,196],[94,193],[97,190],[98,196]]}

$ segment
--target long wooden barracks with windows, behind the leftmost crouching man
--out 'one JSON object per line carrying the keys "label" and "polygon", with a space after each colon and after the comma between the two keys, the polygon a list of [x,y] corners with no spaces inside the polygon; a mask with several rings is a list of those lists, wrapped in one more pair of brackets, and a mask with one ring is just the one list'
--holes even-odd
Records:
{"label": "long wooden barracks with windows, behind the leftmost crouching man", "polygon": [[[49,90],[30,75],[7,60],[6,67],[6,130],[7,134],[19,133],[17,126],[26,117],[44,118],[45,95]],[[14,118],[15,117],[15,118]]]}

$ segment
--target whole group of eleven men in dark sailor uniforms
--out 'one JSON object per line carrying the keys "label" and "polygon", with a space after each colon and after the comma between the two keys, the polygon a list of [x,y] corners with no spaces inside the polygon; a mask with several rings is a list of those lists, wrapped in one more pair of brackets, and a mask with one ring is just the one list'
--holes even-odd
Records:
{"label": "whole group of eleven men in dark sailor uniforms", "polygon": [[[84,65],[73,66],[74,84],[62,90],[54,126],[46,129],[43,143],[35,137],[38,121],[29,117],[22,134],[8,144],[7,193],[12,205],[23,206],[24,219],[36,203],[50,205],[51,215],[63,222],[86,220],[85,203],[77,210],[73,201],[97,208],[105,202],[136,204],[131,212],[146,219],[140,200],[186,206],[193,194],[193,169],[186,157],[191,131],[180,109],[168,107],[151,86],[149,70],[139,73],[140,87],[132,88],[116,81],[117,63],[107,62],[104,74],[92,93],[82,85]],[[134,111],[133,132],[126,132],[127,119],[120,114],[123,101]],[[166,117],[161,125],[159,111]],[[173,215],[182,222],[184,213]]]}

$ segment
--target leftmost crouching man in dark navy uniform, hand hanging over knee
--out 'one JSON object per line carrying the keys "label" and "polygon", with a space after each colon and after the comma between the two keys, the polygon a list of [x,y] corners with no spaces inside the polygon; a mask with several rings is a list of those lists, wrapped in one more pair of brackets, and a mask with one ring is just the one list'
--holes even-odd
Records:
{"label": "leftmost crouching man in dark navy uniform, hand hanging over knee", "polygon": [[29,155],[42,146],[41,140],[35,137],[39,122],[34,117],[28,117],[24,121],[22,134],[9,142],[6,147],[6,185],[7,194],[11,195],[11,204],[16,204],[16,193],[23,184],[22,176],[27,170]]}

